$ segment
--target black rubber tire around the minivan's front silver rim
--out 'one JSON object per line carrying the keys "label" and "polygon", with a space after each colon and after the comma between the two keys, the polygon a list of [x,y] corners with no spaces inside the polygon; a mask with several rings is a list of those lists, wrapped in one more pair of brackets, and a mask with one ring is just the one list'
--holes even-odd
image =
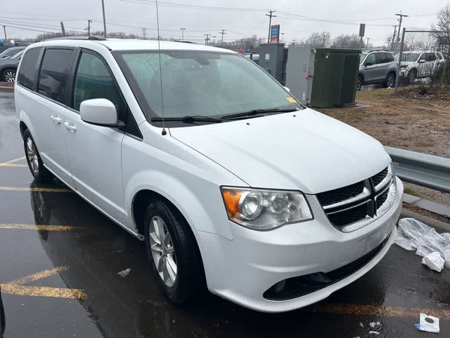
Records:
{"label": "black rubber tire around the minivan's front silver rim", "polygon": [[[158,272],[158,267],[155,260],[153,259],[153,254],[159,255],[160,260],[163,259],[164,255],[167,255],[166,261],[168,261],[169,249],[165,249],[167,253],[159,253],[152,251],[151,248],[152,246],[154,247],[155,244],[151,244],[150,231],[153,229],[150,222],[153,222],[155,219],[158,220],[158,218],[165,223],[165,229],[170,235],[169,241],[172,245],[169,245],[168,247],[174,249],[176,279],[174,280],[173,285],[170,286],[166,283],[171,281],[169,278],[166,279],[166,282],[163,280],[160,272]],[[197,242],[193,237],[191,228],[186,223],[186,220],[184,220],[181,213],[179,213],[174,206],[162,199],[155,199],[148,205],[146,208],[144,225],[146,253],[160,292],[162,292],[167,299],[172,301],[172,303],[180,305],[188,303],[194,298],[194,296],[198,295],[205,289],[205,273],[203,272],[203,264],[200,252],[198,251]],[[155,232],[153,232],[152,236],[154,239]],[[169,267],[167,267],[166,271],[168,271],[168,269]],[[162,268],[162,270],[164,270],[164,268]]]}

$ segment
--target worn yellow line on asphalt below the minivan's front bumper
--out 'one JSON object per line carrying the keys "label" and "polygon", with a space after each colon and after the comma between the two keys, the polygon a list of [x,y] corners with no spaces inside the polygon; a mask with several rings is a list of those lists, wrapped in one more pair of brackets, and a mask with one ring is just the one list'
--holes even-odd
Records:
{"label": "worn yellow line on asphalt below the minivan's front bumper", "polygon": [[413,317],[418,320],[420,313],[450,320],[450,310],[432,310],[430,308],[401,308],[396,306],[372,306],[359,304],[323,304],[314,306],[319,313],[341,315],[385,315],[387,317]]}

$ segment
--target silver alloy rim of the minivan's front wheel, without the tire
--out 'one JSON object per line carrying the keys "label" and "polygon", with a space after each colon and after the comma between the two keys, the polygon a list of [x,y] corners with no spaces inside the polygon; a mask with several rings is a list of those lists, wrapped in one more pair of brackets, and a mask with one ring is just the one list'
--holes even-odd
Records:
{"label": "silver alloy rim of the minivan's front wheel, without the tire", "polygon": [[176,282],[175,249],[167,226],[160,216],[153,216],[149,226],[150,249],[156,270],[167,287]]}

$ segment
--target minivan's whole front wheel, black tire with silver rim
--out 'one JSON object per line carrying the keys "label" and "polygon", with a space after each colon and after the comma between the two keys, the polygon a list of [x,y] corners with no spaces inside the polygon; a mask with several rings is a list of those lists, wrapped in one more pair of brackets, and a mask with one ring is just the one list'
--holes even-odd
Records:
{"label": "minivan's whole front wheel, black tire with silver rim", "polygon": [[177,304],[188,303],[203,289],[203,265],[197,243],[174,206],[155,199],[146,208],[148,260],[162,294]]}

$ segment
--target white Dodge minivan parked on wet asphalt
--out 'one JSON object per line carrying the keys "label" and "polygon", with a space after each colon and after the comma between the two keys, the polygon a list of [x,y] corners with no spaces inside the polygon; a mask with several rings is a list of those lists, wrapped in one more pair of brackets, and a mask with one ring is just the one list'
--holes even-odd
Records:
{"label": "white Dodge minivan parked on wet asphalt", "polygon": [[15,106],[35,179],[58,177],[145,241],[174,303],[207,287],[290,311],[361,277],[394,242],[403,185],[380,142],[233,51],[39,42]]}

